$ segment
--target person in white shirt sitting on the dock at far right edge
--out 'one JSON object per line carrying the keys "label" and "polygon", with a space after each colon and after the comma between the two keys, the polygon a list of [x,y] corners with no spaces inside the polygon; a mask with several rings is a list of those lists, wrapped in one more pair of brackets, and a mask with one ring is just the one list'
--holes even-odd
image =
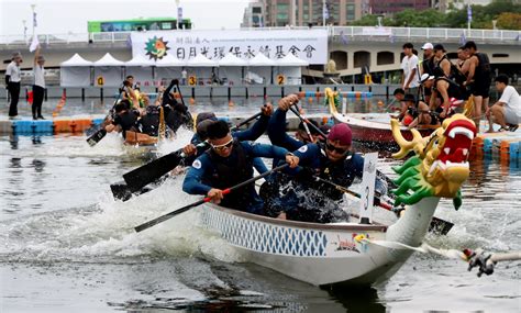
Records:
{"label": "person in white shirt sitting on the dock at far right edge", "polygon": [[519,92],[508,85],[508,76],[496,77],[496,88],[502,92],[501,98],[485,113],[488,118],[489,127],[487,133],[494,133],[494,123],[501,125],[500,132],[518,130],[521,123],[521,99]]}

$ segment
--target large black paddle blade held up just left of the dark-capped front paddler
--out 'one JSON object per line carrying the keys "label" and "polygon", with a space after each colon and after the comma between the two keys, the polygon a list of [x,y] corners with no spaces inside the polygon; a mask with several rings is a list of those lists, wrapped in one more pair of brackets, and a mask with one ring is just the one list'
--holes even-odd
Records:
{"label": "large black paddle blade held up just left of the dark-capped front paddler", "polygon": [[180,154],[180,150],[167,154],[123,175],[130,191],[135,192],[176,168],[182,159]]}

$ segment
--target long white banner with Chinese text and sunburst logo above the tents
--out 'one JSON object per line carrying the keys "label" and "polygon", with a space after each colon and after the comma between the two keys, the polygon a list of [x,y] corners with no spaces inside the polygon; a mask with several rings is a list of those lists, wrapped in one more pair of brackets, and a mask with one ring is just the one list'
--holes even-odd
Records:
{"label": "long white banner with Chinese text and sunburst logo above the tents", "polygon": [[158,60],[171,54],[189,60],[198,54],[219,60],[232,53],[251,59],[258,53],[276,60],[292,53],[310,64],[328,63],[326,30],[133,32],[132,55]]}

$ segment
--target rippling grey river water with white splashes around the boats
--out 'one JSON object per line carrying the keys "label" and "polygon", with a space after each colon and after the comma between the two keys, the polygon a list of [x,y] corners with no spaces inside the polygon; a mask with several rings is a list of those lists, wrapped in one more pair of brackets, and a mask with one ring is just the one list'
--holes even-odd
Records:
{"label": "rippling grey river water with white splashes around the boats", "polygon": [[[196,104],[191,110],[252,114],[259,103]],[[97,103],[92,112],[89,102],[67,105],[71,111],[63,112],[73,114],[103,108]],[[315,103],[304,107],[325,113]],[[190,137],[181,131],[159,153]],[[193,211],[136,234],[134,226],[196,198],[180,191],[178,177],[128,202],[114,201],[109,185],[144,160],[131,156],[112,134],[95,147],[85,136],[5,135],[0,153],[1,312],[521,310],[520,262],[499,264],[492,276],[477,278],[463,261],[414,254],[385,284],[323,290],[242,262],[236,250],[193,226]],[[380,158],[384,172],[390,175],[392,165],[397,161]],[[489,159],[473,163],[472,169],[462,209],[456,212],[443,200],[435,214],[454,228],[447,236],[430,234],[426,242],[443,248],[521,250],[519,164]]]}

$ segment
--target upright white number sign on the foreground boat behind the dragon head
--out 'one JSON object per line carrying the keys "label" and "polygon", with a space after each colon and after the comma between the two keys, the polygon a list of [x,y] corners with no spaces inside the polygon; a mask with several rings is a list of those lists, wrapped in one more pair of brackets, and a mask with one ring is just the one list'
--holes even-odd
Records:
{"label": "upright white number sign on the foreground boat behind the dragon head", "polygon": [[373,220],[373,200],[375,197],[376,163],[378,153],[364,156],[364,175],[362,176],[361,192],[361,224],[370,224]]}

